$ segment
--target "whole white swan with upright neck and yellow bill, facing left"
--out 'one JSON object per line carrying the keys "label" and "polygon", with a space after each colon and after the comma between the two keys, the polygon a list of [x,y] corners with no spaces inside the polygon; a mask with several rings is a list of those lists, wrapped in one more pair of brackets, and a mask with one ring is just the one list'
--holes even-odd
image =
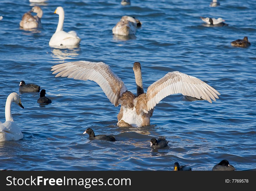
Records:
{"label": "whole white swan with upright neck and yellow bill, facing left", "polygon": [[51,47],[77,47],[81,39],[77,36],[75,31],[69,31],[68,33],[63,31],[64,23],[64,10],[62,7],[57,7],[54,11],[59,15],[59,22],[55,33],[52,35],[49,46]]}

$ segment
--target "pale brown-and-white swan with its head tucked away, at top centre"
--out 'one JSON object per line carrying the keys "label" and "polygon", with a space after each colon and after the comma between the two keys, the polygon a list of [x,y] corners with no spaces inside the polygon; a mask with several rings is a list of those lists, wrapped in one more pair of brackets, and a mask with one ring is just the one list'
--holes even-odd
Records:
{"label": "pale brown-and-white swan with its head tucked away, at top centre", "polygon": [[134,35],[137,27],[141,25],[142,23],[134,17],[122,16],[120,21],[112,28],[112,33],[121,36]]}

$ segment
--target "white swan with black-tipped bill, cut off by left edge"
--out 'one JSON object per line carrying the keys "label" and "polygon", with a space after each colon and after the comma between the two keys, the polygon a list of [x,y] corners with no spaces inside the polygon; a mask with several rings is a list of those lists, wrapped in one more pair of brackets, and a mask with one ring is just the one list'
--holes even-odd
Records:
{"label": "white swan with black-tipped bill, cut off by left edge", "polygon": [[21,104],[19,95],[17,93],[13,92],[7,97],[5,104],[6,122],[0,122],[0,142],[19,140],[23,138],[22,132],[19,130],[19,127],[13,121],[13,116],[11,113],[11,104],[13,102],[17,103],[20,107],[24,108]]}

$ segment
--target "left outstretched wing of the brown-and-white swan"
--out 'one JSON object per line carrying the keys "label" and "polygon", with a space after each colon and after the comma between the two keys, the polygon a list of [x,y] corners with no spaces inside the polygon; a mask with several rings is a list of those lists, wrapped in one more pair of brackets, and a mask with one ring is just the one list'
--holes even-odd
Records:
{"label": "left outstretched wing of the brown-and-white swan", "polygon": [[76,80],[95,81],[104,91],[109,101],[118,106],[118,100],[127,91],[123,81],[103,62],[77,61],[52,66],[55,77],[62,76]]}

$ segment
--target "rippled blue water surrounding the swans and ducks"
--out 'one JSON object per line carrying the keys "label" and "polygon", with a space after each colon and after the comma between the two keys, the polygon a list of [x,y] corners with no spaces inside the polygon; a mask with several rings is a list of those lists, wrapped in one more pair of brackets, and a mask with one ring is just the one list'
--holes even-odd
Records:
{"label": "rippled blue water surrounding the swans and ducks", "polygon": [[[24,133],[17,141],[0,142],[0,169],[15,170],[211,170],[227,159],[237,170],[256,169],[256,1],[210,0],[49,0],[40,4],[42,28],[19,28],[22,15],[35,4],[0,1],[0,121],[19,81],[46,89],[52,103],[40,106],[39,93],[20,94],[13,104],[15,123]],[[64,30],[82,39],[77,49],[54,49],[57,6],[65,10]],[[117,38],[112,28],[123,15],[142,22],[136,35]],[[222,17],[228,26],[205,27],[203,17]],[[248,36],[249,48],[230,42]],[[167,72],[196,76],[221,93],[212,104],[186,101],[181,94],[163,99],[151,126],[116,126],[114,107],[92,81],[55,78],[51,66],[77,60],[103,61],[136,93],[132,66],[139,61],[145,90]],[[116,142],[92,140],[82,133],[114,135]],[[151,150],[149,140],[166,136],[169,147]]]}

